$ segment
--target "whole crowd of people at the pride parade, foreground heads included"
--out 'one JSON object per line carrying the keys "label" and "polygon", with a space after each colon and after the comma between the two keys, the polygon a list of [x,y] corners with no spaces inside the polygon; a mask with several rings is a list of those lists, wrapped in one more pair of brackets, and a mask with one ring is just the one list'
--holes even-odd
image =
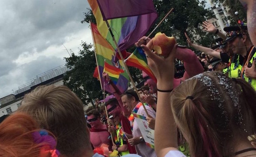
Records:
{"label": "whole crowd of people at the pride parade, foreground heads included", "polygon": [[[219,35],[218,44],[202,47],[185,34],[200,55],[175,45],[164,58],[142,37],[135,46],[157,82],[142,72],[139,95],[134,89],[120,93],[106,73],[113,96],[86,113],[66,86],[26,94],[0,123],[0,156],[102,157],[94,149],[105,144],[128,157],[256,157],[256,2],[241,2],[248,26],[225,27],[224,34],[203,22],[205,31]],[[134,113],[147,116],[154,148],[146,145]]]}

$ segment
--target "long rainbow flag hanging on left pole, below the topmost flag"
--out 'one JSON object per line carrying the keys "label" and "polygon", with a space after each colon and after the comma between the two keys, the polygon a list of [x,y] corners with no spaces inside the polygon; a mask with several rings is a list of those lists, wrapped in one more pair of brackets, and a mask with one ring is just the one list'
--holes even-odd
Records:
{"label": "long rainbow flag hanging on left pole, below the topmost flag", "polygon": [[[104,86],[104,79],[102,73],[104,70],[105,62],[113,67],[116,67],[119,70],[124,70],[124,64],[122,61],[117,61],[114,63],[114,48],[100,35],[97,26],[91,23],[91,31],[95,46],[96,59],[99,66],[99,76],[101,78],[101,86]],[[129,84],[130,78],[126,72],[123,72],[119,75],[119,78],[116,82],[116,86],[123,93]],[[110,92],[109,85],[105,83],[105,90]],[[111,93],[111,92],[110,92]]]}

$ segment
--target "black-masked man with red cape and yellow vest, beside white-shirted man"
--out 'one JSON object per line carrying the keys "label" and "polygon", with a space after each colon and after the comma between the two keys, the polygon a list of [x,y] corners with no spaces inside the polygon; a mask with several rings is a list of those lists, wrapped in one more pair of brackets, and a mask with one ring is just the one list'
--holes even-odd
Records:
{"label": "black-masked man with red cape and yellow vest, beside white-shirted man", "polygon": [[[116,98],[111,98],[105,103],[107,112],[113,115],[113,122],[115,126],[110,126],[109,131],[112,133],[113,138],[117,137],[116,147],[113,149],[120,152],[121,155],[125,155],[127,153],[136,154],[136,150],[134,146],[131,146],[127,139],[122,139],[119,135],[120,129],[125,133],[125,135],[131,135],[132,129],[130,125],[130,121],[123,115],[122,109],[119,106],[119,102]],[[128,149],[128,152],[127,152]]]}

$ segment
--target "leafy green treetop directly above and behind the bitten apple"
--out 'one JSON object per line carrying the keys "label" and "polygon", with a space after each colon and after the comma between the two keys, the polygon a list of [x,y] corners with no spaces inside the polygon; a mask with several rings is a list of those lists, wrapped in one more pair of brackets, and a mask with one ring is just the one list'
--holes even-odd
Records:
{"label": "leafy green treetop directly above and behind the bitten apple", "polygon": [[184,32],[202,46],[209,47],[214,43],[213,35],[202,31],[202,27],[200,27],[201,23],[205,21],[205,15],[209,14],[209,10],[204,9],[205,0],[154,0],[154,3],[159,17],[151,30],[155,28],[171,8],[174,8],[173,13],[166,18],[156,32],[174,36],[180,45],[187,45]]}

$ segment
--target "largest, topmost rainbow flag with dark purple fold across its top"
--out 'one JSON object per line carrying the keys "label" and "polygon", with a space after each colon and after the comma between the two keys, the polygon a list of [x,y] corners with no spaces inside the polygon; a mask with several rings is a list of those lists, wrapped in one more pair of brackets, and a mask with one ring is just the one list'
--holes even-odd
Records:
{"label": "largest, topmost rainbow flag with dark purple fold across its top", "polygon": [[[118,0],[118,1],[119,2],[117,2],[117,0],[110,0],[110,1],[106,0],[105,2],[99,1],[100,2],[99,4],[101,4],[100,7],[98,5],[97,0],[88,0],[88,3],[90,4],[93,14],[96,18],[99,33],[102,35],[103,38],[105,38],[112,45],[114,49],[116,49],[116,46],[113,42],[110,31],[107,28],[106,22],[103,21],[102,15],[106,17],[104,10],[110,9],[110,6],[114,7],[114,9],[116,10],[118,8],[120,11],[124,11],[125,9],[124,11],[125,14],[121,15],[121,17],[123,18],[107,20],[110,27],[112,28],[112,32],[117,41],[117,45],[119,49],[122,51],[129,48],[131,45],[137,42],[139,38],[141,38],[146,34],[146,32],[150,29],[151,25],[157,18],[157,13],[154,10],[154,5],[152,0],[141,0],[141,1],[140,0],[136,0],[136,1]],[[131,5],[133,4],[131,3],[131,1],[134,1],[137,5],[136,6],[135,4]],[[148,3],[145,3],[145,1],[147,1]],[[151,4],[151,7],[150,7],[151,10],[145,8],[145,6],[148,6],[147,4]],[[152,10],[152,5],[153,5],[153,10]],[[130,7],[127,8],[127,6],[130,6]],[[134,14],[134,8],[144,8],[144,9],[137,10],[136,14]],[[117,14],[117,12],[114,12],[114,14],[111,14],[111,18],[113,17],[117,18],[119,16],[115,14]],[[138,15],[138,16],[134,16],[134,15]],[[115,62],[117,60],[118,60],[117,57],[115,57]]]}

